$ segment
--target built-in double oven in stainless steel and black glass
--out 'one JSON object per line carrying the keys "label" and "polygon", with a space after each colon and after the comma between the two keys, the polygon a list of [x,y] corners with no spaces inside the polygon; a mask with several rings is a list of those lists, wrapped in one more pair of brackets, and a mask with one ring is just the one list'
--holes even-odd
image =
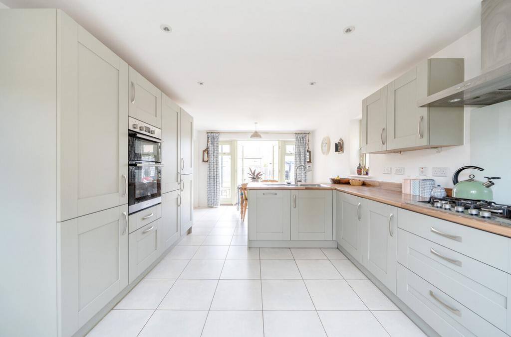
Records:
{"label": "built-in double oven in stainless steel and black glass", "polygon": [[161,202],[161,129],[129,118],[128,212]]}

